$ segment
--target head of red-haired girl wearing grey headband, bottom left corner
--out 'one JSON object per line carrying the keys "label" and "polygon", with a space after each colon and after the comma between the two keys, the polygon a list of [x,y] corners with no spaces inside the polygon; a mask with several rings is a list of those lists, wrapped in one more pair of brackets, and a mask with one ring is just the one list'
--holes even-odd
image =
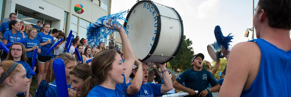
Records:
{"label": "head of red-haired girl wearing grey headband, bottom left corner", "polygon": [[4,70],[0,77],[1,97],[16,97],[17,93],[27,91],[29,79],[21,64],[11,60],[3,61],[1,68]]}

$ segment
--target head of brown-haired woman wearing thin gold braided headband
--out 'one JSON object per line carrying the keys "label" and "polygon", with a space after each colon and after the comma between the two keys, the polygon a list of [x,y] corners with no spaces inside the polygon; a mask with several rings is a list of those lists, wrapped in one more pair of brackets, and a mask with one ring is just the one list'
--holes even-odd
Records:
{"label": "head of brown-haired woman wearing thin gold braided headband", "polygon": [[[81,88],[84,85],[85,80],[92,75],[91,66],[88,64],[80,64],[74,67],[70,72],[70,80],[72,81],[72,86],[69,91],[69,96],[72,97],[71,92],[73,89],[77,92],[77,97],[81,96]],[[73,96],[76,97],[76,96]]]}

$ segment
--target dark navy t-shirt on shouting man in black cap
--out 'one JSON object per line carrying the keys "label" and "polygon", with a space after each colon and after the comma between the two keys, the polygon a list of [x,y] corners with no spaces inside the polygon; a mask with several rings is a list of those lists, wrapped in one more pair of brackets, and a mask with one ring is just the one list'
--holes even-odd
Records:
{"label": "dark navy t-shirt on shouting man in black cap", "polygon": [[[207,71],[202,69],[201,71],[194,71],[193,68],[184,71],[180,74],[176,79],[180,84],[185,83],[185,87],[193,89],[194,91],[198,90],[198,94],[200,94],[203,90],[205,90],[209,85],[213,87],[218,82],[213,77],[213,75]],[[195,96],[186,96],[186,97],[198,97]],[[206,97],[212,97],[212,93],[208,93]]]}

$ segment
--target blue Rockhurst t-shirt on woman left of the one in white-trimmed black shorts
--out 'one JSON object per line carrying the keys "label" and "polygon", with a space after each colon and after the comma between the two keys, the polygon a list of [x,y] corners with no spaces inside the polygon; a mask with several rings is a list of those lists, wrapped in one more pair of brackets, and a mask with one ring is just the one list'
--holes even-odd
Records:
{"label": "blue Rockhurst t-shirt on woman left of the one in white-trimmed black shorts", "polygon": [[[25,49],[30,49],[30,48],[32,48],[33,46],[38,46],[38,49],[41,49],[42,47],[40,46],[40,43],[39,43],[39,41],[38,40],[36,40],[36,39],[30,39],[30,38],[28,38],[28,37],[26,37],[26,38],[24,38],[23,39],[24,40],[24,43],[23,43],[23,45],[25,46]],[[28,57],[28,58],[32,58],[32,55],[33,55],[33,50],[32,51],[29,51],[29,52],[26,52],[26,56]],[[37,54],[36,54],[36,58],[37,58]]]}

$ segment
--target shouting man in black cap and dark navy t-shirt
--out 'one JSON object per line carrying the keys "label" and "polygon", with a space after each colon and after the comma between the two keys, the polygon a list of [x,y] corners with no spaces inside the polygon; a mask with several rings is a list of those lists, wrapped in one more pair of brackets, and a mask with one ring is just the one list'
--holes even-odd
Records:
{"label": "shouting man in black cap and dark navy t-shirt", "polygon": [[[220,85],[213,75],[202,69],[204,55],[195,54],[192,57],[193,68],[184,71],[174,82],[174,88],[180,91],[188,92],[186,97],[212,97],[211,92],[219,92]],[[185,86],[182,83],[185,82]],[[209,84],[212,88],[208,87]],[[198,93],[195,91],[198,90]]]}

